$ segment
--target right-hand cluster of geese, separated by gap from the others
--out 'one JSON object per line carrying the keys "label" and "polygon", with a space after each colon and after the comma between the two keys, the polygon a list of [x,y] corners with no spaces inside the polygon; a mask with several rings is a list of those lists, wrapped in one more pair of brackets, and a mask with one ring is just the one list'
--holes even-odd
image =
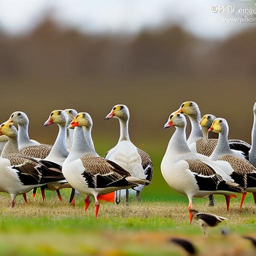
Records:
{"label": "right-hand cluster of geese, separated by gap from the others", "polygon": [[[253,106],[254,121],[252,144],[239,139],[228,140],[228,124],[224,118],[205,114],[202,118],[198,105],[185,101],[172,112],[164,128],[174,126],[165,154],[161,161],[161,173],[174,190],[189,200],[189,220],[193,217],[192,198],[222,194],[229,200],[241,193],[240,208],[247,192],[253,194],[256,203],[256,103]],[[186,140],[186,118],[191,122],[191,132]],[[208,138],[208,132],[218,133],[218,139]]]}

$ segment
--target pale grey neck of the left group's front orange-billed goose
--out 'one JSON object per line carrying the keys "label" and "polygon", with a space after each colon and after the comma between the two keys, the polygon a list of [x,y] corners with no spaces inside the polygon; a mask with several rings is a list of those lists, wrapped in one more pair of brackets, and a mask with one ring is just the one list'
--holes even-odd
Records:
{"label": "pale grey neck of the left group's front orange-billed goose", "polygon": [[98,156],[98,154],[92,142],[91,128],[84,132],[82,127],[77,126],[74,128],[73,144],[68,158],[77,159],[82,156]]}

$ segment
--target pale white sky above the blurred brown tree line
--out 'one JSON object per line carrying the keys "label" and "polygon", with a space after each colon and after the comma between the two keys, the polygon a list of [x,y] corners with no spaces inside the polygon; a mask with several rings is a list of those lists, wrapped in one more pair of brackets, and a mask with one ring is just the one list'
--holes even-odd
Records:
{"label": "pale white sky above the blurred brown tree line", "polygon": [[[226,5],[235,6],[235,11],[214,12],[216,6]],[[0,0],[0,29],[9,34],[29,32],[50,11],[61,26],[82,32],[136,33],[179,24],[199,37],[225,38],[256,24],[223,21],[236,17],[239,6],[256,8],[253,0]]]}

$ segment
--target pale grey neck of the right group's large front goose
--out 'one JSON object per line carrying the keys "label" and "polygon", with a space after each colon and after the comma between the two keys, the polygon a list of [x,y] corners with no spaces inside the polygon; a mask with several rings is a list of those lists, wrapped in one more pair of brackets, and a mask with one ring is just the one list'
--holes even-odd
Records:
{"label": "pale grey neck of the right group's large front goose", "polygon": [[176,157],[177,154],[190,153],[185,135],[185,127],[175,127],[176,130],[171,136],[165,154],[169,157]]}

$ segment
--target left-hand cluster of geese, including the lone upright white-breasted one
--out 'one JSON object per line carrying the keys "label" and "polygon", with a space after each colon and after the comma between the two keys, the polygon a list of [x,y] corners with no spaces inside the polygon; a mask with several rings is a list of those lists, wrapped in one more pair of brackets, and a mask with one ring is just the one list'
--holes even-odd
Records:
{"label": "left-hand cluster of geese, including the lone upright white-breasted one", "polygon": [[85,210],[92,195],[96,217],[98,200],[114,201],[114,191],[132,188],[139,200],[140,191],[152,178],[152,161],[129,139],[127,106],[113,106],[105,119],[113,117],[119,120],[120,137],[103,158],[95,151],[88,113],[74,109],[52,111],[44,126],[56,123],[59,131],[54,144],[48,145],[30,139],[27,115],[13,112],[0,124],[0,191],[10,194],[11,207],[17,194],[27,202],[26,192],[33,189],[35,196],[37,187],[41,188],[43,200],[44,189],[56,190],[61,200],[59,189],[71,188],[72,204],[77,190],[86,196]]}

